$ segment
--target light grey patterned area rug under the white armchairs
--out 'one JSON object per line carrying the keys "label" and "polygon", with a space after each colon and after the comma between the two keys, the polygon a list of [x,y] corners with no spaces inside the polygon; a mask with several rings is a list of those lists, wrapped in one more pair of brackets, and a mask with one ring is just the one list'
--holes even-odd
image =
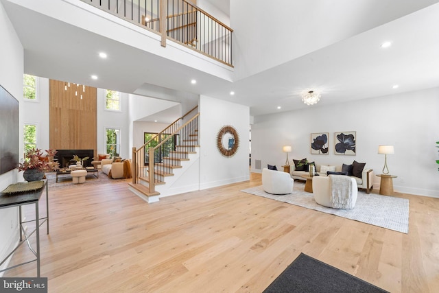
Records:
{"label": "light grey patterned area rug under the white armchairs", "polygon": [[262,185],[241,190],[247,194],[263,196],[289,204],[295,204],[307,209],[331,213],[339,217],[364,222],[367,224],[388,228],[401,233],[409,233],[409,200],[393,196],[379,196],[358,191],[357,202],[354,209],[331,209],[318,204],[313,194],[303,191],[304,183],[294,182],[292,194],[276,196],[268,194]]}

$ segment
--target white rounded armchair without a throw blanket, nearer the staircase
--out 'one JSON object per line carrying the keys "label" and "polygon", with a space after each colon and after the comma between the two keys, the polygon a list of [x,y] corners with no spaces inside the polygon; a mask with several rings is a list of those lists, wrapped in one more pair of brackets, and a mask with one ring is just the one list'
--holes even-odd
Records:
{"label": "white rounded armchair without a throw blanket, nearer the staircase", "polygon": [[262,170],[262,187],[269,194],[291,194],[294,179],[289,173],[274,171],[267,168]]}

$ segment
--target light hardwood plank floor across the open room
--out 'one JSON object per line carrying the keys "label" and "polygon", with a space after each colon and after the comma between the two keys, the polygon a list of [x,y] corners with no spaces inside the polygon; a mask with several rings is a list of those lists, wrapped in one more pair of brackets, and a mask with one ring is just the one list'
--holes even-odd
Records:
{"label": "light hardwood plank floor across the open room", "polygon": [[262,292],[300,253],[390,292],[438,292],[439,199],[397,195],[410,199],[406,235],[239,191],[258,185],[251,174],[154,204],[123,180],[49,189],[49,292]]}

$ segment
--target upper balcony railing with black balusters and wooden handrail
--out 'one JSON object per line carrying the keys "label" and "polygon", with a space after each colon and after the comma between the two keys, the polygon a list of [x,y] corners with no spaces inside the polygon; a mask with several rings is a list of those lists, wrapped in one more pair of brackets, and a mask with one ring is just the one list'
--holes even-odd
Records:
{"label": "upper balcony railing with black balusters and wooden handrail", "polygon": [[233,66],[233,30],[185,0],[82,1]]}

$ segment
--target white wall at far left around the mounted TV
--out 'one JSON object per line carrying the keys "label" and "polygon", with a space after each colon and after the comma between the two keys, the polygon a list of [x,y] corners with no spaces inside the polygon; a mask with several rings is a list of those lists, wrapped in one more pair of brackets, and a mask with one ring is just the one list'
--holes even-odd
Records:
{"label": "white wall at far left around the mounted TV", "polygon": [[[23,105],[23,46],[0,3],[0,84]],[[1,105],[0,105],[1,106]],[[23,137],[23,115],[20,113],[20,137]],[[20,154],[23,154],[23,139],[20,139]],[[23,159],[23,158],[22,158]],[[12,170],[0,175],[0,190],[16,183],[17,171]],[[19,240],[18,208],[0,209],[0,259],[10,253]],[[5,268],[5,264],[1,268]],[[0,273],[0,276],[3,273]]]}

